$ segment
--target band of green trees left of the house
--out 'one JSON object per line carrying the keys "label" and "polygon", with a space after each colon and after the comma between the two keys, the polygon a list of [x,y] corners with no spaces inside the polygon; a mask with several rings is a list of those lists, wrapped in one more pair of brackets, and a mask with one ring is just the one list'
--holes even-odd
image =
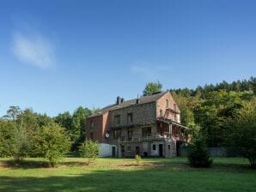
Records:
{"label": "band of green trees left of the house", "polygon": [[0,157],[41,157],[56,165],[64,153],[75,151],[85,140],[85,119],[92,111],[78,107],[71,115],[64,112],[48,117],[31,109],[10,106],[0,118]]}

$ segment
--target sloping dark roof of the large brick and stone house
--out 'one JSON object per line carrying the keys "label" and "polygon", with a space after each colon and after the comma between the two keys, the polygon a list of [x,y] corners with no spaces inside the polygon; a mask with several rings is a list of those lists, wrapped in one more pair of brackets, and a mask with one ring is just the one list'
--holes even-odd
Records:
{"label": "sloping dark roof of the large brick and stone house", "polygon": [[[154,101],[162,98],[162,96],[166,93],[168,93],[168,91],[140,97],[139,105],[154,102]],[[113,110],[125,108],[127,106],[136,105],[136,101],[137,101],[137,99],[130,99],[130,100],[124,101],[123,103],[120,103],[119,105],[117,105],[117,104],[107,105],[106,107],[102,108],[100,111],[97,111],[96,113],[94,113],[93,115],[91,115],[89,117],[101,116],[102,114],[106,113],[107,111],[113,111]]]}

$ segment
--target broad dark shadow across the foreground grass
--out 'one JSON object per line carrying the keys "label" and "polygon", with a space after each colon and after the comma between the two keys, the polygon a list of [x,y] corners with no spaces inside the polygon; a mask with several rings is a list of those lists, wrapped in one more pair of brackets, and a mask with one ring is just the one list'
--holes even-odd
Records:
{"label": "broad dark shadow across the foreground grass", "polygon": [[254,191],[252,174],[208,171],[76,171],[63,176],[0,177],[0,191]]}

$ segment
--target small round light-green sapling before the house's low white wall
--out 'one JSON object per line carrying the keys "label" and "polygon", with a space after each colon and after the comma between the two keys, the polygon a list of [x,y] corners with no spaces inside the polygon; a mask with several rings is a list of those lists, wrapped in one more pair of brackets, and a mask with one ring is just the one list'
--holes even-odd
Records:
{"label": "small round light-green sapling before the house's low white wall", "polygon": [[99,155],[99,144],[96,141],[87,140],[79,147],[81,157],[88,159],[90,165]]}

